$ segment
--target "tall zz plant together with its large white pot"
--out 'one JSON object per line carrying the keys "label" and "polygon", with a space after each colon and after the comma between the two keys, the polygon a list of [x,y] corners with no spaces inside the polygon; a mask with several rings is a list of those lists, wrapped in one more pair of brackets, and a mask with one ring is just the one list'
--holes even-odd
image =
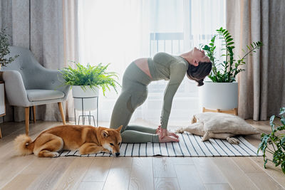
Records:
{"label": "tall zz plant together with its large white pot", "polygon": [[[224,61],[218,60],[215,56],[216,46],[215,40],[219,37],[222,39],[222,51],[226,53]],[[202,49],[207,53],[212,62],[212,72],[209,74],[209,79],[212,81],[205,82],[202,88],[200,88],[200,97],[202,101],[202,107],[210,110],[232,110],[238,106],[238,83],[236,76],[244,69],[240,68],[245,64],[245,58],[256,49],[260,48],[262,43],[260,41],[253,42],[250,46],[247,46],[247,52],[245,52],[242,58],[234,60],[234,42],[229,31],[224,28],[217,30],[217,35],[212,37],[209,45],[202,46]],[[237,115],[237,109],[235,109]]]}

